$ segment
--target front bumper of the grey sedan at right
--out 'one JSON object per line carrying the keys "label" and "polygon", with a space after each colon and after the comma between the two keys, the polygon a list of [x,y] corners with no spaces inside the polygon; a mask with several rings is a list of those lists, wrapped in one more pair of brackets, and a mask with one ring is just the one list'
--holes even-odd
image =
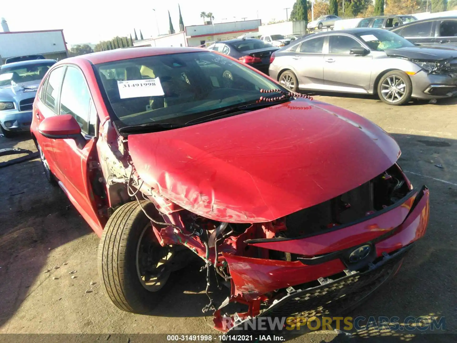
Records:
{"label": "front bumper of the grey sedan at right", "polygon": [[457,95],[457,75],[427,74],[421,70],[411,76],[412,97],[418,99],[439,99]]}

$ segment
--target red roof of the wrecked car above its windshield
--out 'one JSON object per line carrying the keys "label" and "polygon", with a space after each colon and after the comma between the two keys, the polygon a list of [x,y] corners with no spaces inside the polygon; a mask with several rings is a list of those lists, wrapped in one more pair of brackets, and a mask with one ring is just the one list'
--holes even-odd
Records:
{"label": "red roof of the wrecked car above its windshield", "polygon": [[[100,51],[92,54],[85,54],[69,59],[63,59],[62,63],[71,63],[76,60],[86,59],[92,64],[101,64],[106,62],[120,61],[122,59],[135,59],[139,57],[169,55],[169,54],[182,54],[182,53],[195,53],[208,51],[205,48],[192,48],[192,47],[130,47],[120,48],[115,50]],[[59,63],[60,64],[60,63]]]}

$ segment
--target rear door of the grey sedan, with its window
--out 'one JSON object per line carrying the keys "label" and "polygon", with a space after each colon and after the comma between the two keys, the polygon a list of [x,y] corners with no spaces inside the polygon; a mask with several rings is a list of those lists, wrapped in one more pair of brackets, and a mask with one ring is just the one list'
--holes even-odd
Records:
{"label": "rear door of the grey sedan, with its window", "polygon": [[323,48],[326,38],[327,36],[318,36],[307,39],[296,52],[290,52],[290,61],[296,71],[300,88],[314,89],[314,85],[323,84]]}

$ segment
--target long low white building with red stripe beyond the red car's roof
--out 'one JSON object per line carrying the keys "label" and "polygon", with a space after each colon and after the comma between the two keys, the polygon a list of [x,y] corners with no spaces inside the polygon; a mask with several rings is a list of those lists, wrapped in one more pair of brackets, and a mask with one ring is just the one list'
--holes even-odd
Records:
{"label": "long low white building with red stripe beyond the red car's roof", "polygon": [[244,32],[258,32],[262,25],[260,19],[246,21],[232,21],[218,24],[191,25],[178,32],[157,38],[136,41],[133,46],[152,47],[198,47],[211,42],[220,42],[237,38]]}

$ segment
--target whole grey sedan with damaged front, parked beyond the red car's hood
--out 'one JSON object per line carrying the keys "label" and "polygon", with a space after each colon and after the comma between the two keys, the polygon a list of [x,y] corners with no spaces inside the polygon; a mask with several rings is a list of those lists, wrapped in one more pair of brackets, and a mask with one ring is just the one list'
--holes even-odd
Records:
{"label": "whole grey sedan with damaged front, parked beyond the red car's hood", "polygon": [[377,94],[390,105],[457,92],[457,50],[418,47],[383,29],[316,33],[272,56],[269,75],[292,91]]}

